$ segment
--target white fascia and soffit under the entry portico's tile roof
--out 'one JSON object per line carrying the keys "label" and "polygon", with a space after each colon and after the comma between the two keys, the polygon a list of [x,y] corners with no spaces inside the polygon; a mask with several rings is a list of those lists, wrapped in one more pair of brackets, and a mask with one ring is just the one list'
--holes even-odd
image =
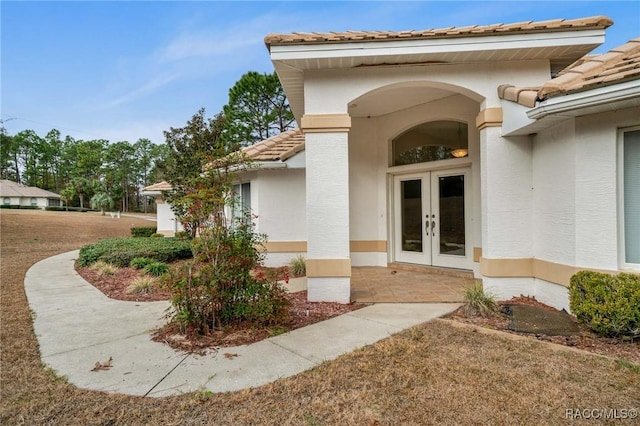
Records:
{"label": "white fascia and soffit under the entry portico's tile roof", "polygon": [[463,64],[546,59],[555,73],[604,42],[605,29],[366,42],[269,46],[271,60],[296,117],[304,114],[304,73],[377,66]]}

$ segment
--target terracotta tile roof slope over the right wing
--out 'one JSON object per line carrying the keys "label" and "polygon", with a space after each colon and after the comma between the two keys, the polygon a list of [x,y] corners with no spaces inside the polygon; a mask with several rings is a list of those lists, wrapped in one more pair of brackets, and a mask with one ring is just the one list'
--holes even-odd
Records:
{"label": "terracotta tile roof slope over the right wing", "polygon": [[640,37],[605,54],[587,55],[577,60],[541,87],[504,84],[498,88],[498,96],[534,107],[536,100],[637,79],[640,79]]}

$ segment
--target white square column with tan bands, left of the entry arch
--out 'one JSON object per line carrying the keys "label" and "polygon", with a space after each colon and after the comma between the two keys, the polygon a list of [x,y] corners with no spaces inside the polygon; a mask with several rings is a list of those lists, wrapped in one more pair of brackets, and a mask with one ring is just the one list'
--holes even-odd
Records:
{"label": "white square column with tan bands, left of the entry arch", "polygon": [[348,114],[302,117],[307,191],[307,299],[351,301]]}

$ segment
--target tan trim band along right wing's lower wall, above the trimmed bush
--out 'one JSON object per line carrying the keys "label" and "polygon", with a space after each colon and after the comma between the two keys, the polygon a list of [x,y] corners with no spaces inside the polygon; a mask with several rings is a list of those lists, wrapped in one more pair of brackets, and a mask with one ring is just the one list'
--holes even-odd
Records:
{"label": "tan trim band along right wing's lower wall, above the trimmed bush", "polygon": [[584,268],[580,266],[565,265],[549,262],[547,260],[522,258],[522,259],[487,259],[480,258],[480,273],[486,277],[510,278],[528,277],[538,278],[564,287],[569,287],[571,277],[580,271],[589,270],[616,274],[619,271],[605,269]]}

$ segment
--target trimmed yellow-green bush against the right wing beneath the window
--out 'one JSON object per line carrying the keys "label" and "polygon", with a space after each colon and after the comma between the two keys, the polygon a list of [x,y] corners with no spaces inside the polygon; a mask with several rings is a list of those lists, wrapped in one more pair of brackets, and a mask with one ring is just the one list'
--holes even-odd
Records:
{"label": "trimmed yellow-green bush against the right wing beneath the window", "polygon": [[640,274],[578,272],[569,284],[569,307],[598,334],[640,337]]}

